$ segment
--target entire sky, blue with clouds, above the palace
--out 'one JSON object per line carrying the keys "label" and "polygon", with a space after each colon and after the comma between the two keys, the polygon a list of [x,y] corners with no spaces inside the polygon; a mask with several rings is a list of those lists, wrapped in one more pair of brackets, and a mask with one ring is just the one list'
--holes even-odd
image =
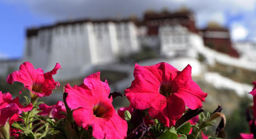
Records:
{"label": "entire sky, blue with clouds, above the palace", "polygon": [[25,30],[76,18],[107,18],[147,9],[195,12],[198,27],[209,21],[231,30],[233,40],[256,40],[256,0],[0,0],[0,59],[22,57]]}

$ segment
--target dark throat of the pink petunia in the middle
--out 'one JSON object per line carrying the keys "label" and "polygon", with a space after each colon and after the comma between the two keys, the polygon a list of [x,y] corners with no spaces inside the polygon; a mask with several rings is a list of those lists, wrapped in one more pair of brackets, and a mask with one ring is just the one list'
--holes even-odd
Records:
{"label": "dark throat of the pink petunia in the middle", "polygon": [[106,108],[102,104],[95,105],[93,108],[94,116],[98,118],[108,118],[110,115],[108,114],[110,108]]}

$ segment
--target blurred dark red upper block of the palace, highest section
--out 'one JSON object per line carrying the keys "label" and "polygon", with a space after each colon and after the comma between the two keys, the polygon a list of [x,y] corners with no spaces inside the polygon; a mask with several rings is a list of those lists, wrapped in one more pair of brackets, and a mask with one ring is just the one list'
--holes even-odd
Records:
{"label": "blurred dark red upper block of the palace, highest section", "polygon": [[194,15],[187,10],[175,13],[167,10],[163,10],[160,13],[146,11],[143,20],[137,25],[138,30],[143,32],[139,34],[140,43],[151,47],[160,47],[159,31],[162,26],[181,25],[182,27],[186,27],[189,32],[197,32]]}

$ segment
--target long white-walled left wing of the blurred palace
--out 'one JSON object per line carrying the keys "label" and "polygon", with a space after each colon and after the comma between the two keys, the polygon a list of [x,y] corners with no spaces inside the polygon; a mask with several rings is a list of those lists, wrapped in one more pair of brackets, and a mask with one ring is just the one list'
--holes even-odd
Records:
{"label": "long white-walled left wing of the blurred palace", "polygon": [[72,78],[138,50],[134,22],[80,20],[28,29],[24,60],[48,70],[58,62],[65,67],[59,76]]}

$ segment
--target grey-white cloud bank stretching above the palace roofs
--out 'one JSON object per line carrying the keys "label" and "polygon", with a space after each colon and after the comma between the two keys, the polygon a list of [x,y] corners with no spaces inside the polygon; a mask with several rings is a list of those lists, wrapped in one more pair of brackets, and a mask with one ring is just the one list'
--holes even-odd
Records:
{"label": "grey-white cloud bank stretching above the palace roofs", "polygon": [[[256,0],[10,0],[12,4],[23,2],[30,10],[52,20],[70,18],[115,18],[117,15],[127,17],[137,14],[143,17],[147,9],[160,11],[166,7],[175,11],[185,5],[195,12],[196,25],[205,27],[209,21],[229,25],[228,16],[248,16],[245,22],[256,17]],[[250,36],[256,25],[243,24]]]}

